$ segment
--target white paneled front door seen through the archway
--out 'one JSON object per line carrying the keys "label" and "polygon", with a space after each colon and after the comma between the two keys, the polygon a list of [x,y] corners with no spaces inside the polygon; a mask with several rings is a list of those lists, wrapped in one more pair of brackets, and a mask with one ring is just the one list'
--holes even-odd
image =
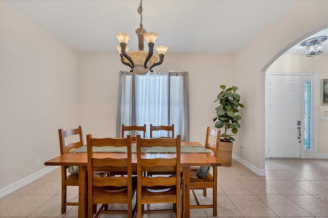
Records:
{"label": "white paneled front door seen through the archway", "polygon": [[269,77],[269,157],[300,158],[301,76]]}

